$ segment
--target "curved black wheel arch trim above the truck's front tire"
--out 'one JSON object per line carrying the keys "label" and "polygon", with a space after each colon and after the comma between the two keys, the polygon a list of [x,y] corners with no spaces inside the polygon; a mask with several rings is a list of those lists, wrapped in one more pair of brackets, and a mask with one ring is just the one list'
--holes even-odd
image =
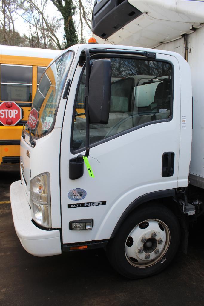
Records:
{"label": "curved black wheel arch trim above the truck's front tire", "polygon": [[120,226],[122,225],[125,218],[130,214],[131,211],[133,211],[136,207],[139,205],[146,203],[151,200],[160,199],[160,198],[168,198],[170,196],[175,196],[175,189],[166,189],[166,190],[160,190],[160,191],[154,191],[144,194],[143,196],[140,196],[136,200],[134,200],[123,212],[123,215],[119,218],[112,234],[111,238],[115,236],[117,231],[119,230]]}

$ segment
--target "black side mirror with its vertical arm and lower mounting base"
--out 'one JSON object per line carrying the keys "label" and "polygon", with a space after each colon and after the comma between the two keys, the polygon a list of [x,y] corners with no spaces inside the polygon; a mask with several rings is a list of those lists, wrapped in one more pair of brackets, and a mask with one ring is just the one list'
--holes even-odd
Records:
{"label": "black side mirror with its vertical arm and lower mounting base", "polygon": [[[111,61],[107,58],[96,60],[90,67],[89,50],[84,49],[86,59],[85,109],[86,109],[86,152],[89,156],[89,124],[107,124],[111,98]],[[91,73],[89,74],[89,69]],[[89,116],[87,116],[89,114]],[[69,160],[70,180],[84,174],[83,155]]]}

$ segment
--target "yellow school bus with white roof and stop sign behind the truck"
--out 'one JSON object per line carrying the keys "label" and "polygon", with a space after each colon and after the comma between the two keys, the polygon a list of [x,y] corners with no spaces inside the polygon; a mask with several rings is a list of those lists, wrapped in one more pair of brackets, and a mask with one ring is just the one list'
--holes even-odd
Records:
{"label": "yellow school bus with white roof and stop sign behind the truck", "polygon": [[22,126],[45,68],[59,53],[0,45],[0,163],[19,163]]}

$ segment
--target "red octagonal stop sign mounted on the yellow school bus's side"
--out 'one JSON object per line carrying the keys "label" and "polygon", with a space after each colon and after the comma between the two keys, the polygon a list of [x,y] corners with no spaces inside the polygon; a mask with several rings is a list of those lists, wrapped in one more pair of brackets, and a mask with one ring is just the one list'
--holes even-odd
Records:
{"label": "red octagonal stop sign mounted on the yellow school bus's side", "polygon": [[3,125],[16,125],[22,118],[21,107],[14,101],[4,101],[0,104],[0,122]]}

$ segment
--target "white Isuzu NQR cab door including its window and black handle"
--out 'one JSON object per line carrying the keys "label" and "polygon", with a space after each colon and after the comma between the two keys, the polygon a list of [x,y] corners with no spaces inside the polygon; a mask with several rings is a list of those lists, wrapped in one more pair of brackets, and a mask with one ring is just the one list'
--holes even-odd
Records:
{"label": "white Isuzu NQR cab door including its window and black handle", "polygon": [[[99,57],[94,55],[92,60]],[[90,125],[88,160],[94,177],[84,165],[83,176],[76,180],[69,179],[68,165],[71,158],[85,153],[84,68],[77,67],[70,88],[61,141],[63,243],[107,239],[135,199],[177,188],[180,88],[176,58],[164,54],[156,59],[107,57],[112,73],[109,121]],[[93,219],[93,229],[69,229],[70,221],[81,219]]]}

